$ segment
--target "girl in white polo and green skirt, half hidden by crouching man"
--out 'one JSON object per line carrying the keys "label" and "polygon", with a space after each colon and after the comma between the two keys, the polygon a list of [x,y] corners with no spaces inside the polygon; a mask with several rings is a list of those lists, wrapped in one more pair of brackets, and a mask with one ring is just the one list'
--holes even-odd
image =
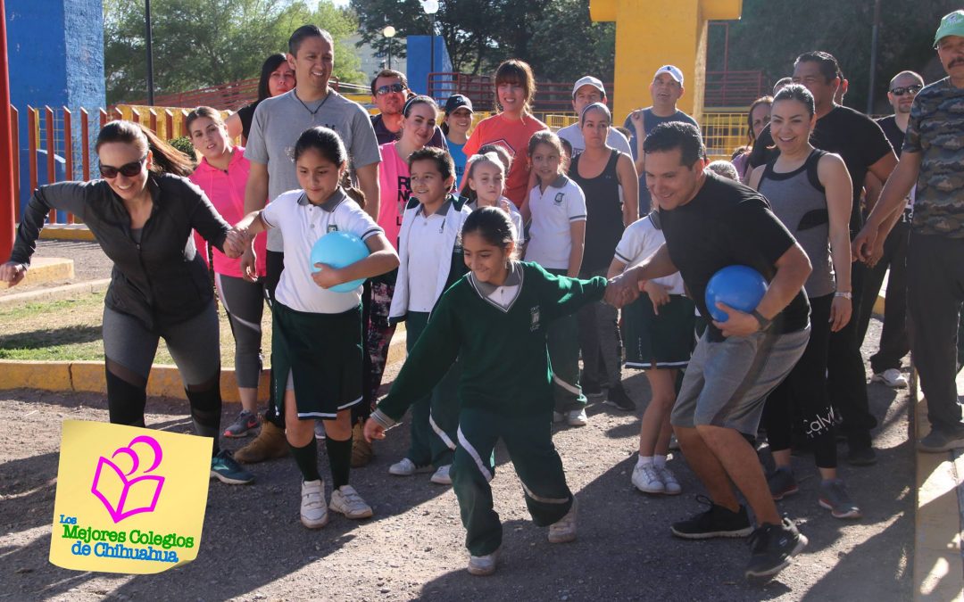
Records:
{"label": "girl in white polo and green skirt, half hidden by crouching man", "polygon": [[[657,211],[629,224],[616,246],[607,277],[642,263],[665,240]],[[666,467],[666,455],[677,377],[693,352],[693,309],[693,301],[683,296],[680,273],[647,281],[639,299],[623,308],[626,365],[645,370],[653,391],[653,399],[643,412],[639,459],[632,471],[632,484],[646,493],[676,495],[681,490],[676,476]]]}

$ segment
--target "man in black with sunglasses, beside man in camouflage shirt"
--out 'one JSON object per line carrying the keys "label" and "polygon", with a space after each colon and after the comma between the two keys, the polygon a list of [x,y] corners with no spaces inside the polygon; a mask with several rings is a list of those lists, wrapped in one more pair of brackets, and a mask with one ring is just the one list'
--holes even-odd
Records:
{"label": "man in black with sunglasses, beside man in camouflage shirt", "polygon": [[[907,121],[910,119],[910,107],[914,103],[917,92],[924,88],[924,78],[914,71],[901,71],[891,80],[888,88],[887,99],[894,107],[894,115],[880,118],[877,123],[884,131],[884,136],[890,141],[891,146],[900,156],[900,149],[903,146],[904,131],[907,129]],[[868,180],[876,180],[872,174]],[[873,208],[876,195],[879,195],[879,182],[874,182],[874,186],[868,184],[868,203],[867,210]],[[870,190],[874,189],[871,195]],[[864,282],[863,303],[858,316],[857,339],[863,342],[867,335],[867,328],[870,325],[870,315],[873,313],[873,301],[880,292],[880,285],[884,281],[884,275],[890,269],[891,274],[887,279],[887,304],[884,306],[884,327],[880,333],[880,346],[877,353],[870,356],[870,370],[873,376],[870,382],[882,382],[883,384],[894,387],[904,388],[907,386],[907,379],[900,373],[900,360],[910,351],[910,342],[907,340],[907,327],[905,314],[907,311],[907,239],[910,235],[910,222],[914,212],[914,193],[907,197],[907,205],[903,213],[900,214],[897,224],[891,233],[887,235],[884,243],[884,254],[877,260],[873,267],[867,270]]]}

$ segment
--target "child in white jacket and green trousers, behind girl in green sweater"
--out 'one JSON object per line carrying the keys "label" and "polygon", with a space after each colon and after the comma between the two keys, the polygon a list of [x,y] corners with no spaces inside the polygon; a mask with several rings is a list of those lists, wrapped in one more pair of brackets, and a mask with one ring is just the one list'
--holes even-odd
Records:
{"label": "child in white jacket and green trousers, behind girl in green sweater", "polygon": [[[412,197],[399,232],[400,264],[388,319],[405,320],[406,346],[411,352],[442,293],[466,274],[459,234],[469,217],[465,199],[449,194],[455,182],[451,156],[441,148],[425,147],[409,157]],[[412,405],[412,443],[400,461],[388,468],[399,477],[419,468],[436,467],[431,481],[451,484],[448,469],[458,440],[459,407],[456,391],[460,365],[456,362],[429,395]]]}

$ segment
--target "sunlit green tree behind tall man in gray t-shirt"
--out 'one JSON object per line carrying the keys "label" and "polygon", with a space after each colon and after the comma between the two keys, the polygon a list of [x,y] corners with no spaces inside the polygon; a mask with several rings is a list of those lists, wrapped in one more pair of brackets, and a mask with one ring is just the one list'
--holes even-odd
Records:
{"label": "sunlit green tree behind tall man in gray t-shirt", "polygon": [[[284,52],[295,29],[315,23],[335,38],[335,77],[361,82],[355,49],[344,43],[358,29],[353,13],[322,0],[154,0],[151,3],[155,93],[182,92],[257,77],[261,63]],[[104,1],[107,101],[147,96],[144,5]]]}

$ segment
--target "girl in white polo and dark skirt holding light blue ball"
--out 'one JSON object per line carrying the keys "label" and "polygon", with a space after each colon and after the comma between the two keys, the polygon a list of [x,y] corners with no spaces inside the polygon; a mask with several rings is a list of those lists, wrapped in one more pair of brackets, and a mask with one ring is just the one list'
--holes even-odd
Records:
{"label": "girl in white polo and dark skirt holding light blue ball", "polygon": [[[312,127],[294,147],[298,183],[304,190],[281,194],[248,214],[231,235],[244,241],[267,228],[284,235],[284,271],[275,294],[271,363],[276,395],[284,412],[291,455],[302,472],[301,520],[308,529],[328,523],[328,510],[348,518],[371,516],[371,508],[348,484],[352,456],[351,407],[362,402],[362,287],[336,293],[331,287],[385,274],[398,255],[381,227],[362,211],[339,182],[348,153],[334,130]],[[370,254],[335,269],[315,264],[311,248],[329,232],[352,232]],[[283,392],[283,393],[282,393]],[[325,424],[332,468],[332,501],[318,474],[314,420]]]}

